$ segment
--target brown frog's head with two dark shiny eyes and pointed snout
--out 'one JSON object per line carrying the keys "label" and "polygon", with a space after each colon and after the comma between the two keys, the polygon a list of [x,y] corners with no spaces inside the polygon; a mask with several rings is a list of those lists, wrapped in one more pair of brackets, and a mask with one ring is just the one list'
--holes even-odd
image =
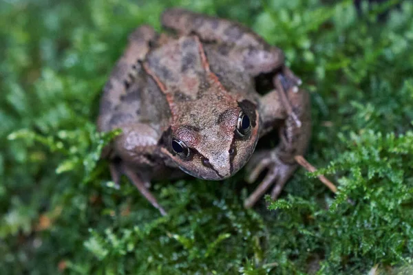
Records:
{"label": "brown frog's head with two dark shiny eyes and pointed snout", "polygon": [[185,173],[220,180],[237,173],[253,154],[259,115],[249,100],[210,103],[182,112],[165,132],[162,151]]}

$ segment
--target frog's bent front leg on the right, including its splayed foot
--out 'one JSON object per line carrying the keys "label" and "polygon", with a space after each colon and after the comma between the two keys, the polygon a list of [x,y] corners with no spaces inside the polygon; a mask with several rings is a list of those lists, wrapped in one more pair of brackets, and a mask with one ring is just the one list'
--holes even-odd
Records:
{"label": "frog's bent front leg on the right, including its splayed foot", "polygon": [[[308,146],[311,135],[310,97],[306,91],[297,92],[294,87],[286,85],[287,91],[284,91],[284,85],[277,85],[278,90],[271,91],[260,100],[262,122],[264,126],[267,125],[262,134],[271,131],[276,121],[282,120],[282,125],[278,129],[279,145],[270,151],[257,152],[247,164],[247,169],[251,170],[248,182],[255,181],[266,168],[268,173],[253,194],[244,201],[246,208],[251,208],[273,184],[275,186],[271,198],[277,199],[284,184],[297,168],[295,155],[304,155]],[[288,115],[286,106],[280,98],[282,93],[286,94],[293,113],[301,122],[300,125],[297,125],[292,115]]]}

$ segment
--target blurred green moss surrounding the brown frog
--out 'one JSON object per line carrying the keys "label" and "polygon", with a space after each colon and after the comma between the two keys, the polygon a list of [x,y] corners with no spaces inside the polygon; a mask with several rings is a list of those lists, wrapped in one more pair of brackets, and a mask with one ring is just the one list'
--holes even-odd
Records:
{"label": "blurred green moss surrounding the brown frog", "polygon": [[[337,195],[301,168],[244,210],[242,171],[157,182],[160,217],[113,187],[100,89],[127,34],[172,5],[285,51],[312,98],[306,157]],[[413,274],[412,18],[412,1],[0,1],[0,273]]]}

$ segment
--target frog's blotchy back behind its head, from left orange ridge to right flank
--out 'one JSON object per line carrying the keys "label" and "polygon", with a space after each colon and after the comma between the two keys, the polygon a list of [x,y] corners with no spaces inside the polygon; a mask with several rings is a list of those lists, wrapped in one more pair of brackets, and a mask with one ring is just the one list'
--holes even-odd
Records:
{"label": "frog's blotchy back behind its head, from left orange ridge to right flank", "polygon": [[[158,78],[177,102],[196,100],[202,93],[214,92],[208,80],[212,72],[231,94],[245,94],[253,89],[251,77],[231,61],[226,46],[203,43],[198,36],[180,36],[176,40],[149,52],[146,58],[147,72]],[[227,47],[226,47],[227,48]]]}

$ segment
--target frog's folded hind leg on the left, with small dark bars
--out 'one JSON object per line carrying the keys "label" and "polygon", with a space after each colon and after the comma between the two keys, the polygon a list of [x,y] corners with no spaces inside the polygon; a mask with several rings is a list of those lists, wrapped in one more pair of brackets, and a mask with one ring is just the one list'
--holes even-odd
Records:
{"label": "frog's folded hind leg on the left, with small dark bars", "polygon": [[140,93],[145,76],[138,61],[145,58],[149,44],[157,39],[153,28],[143,25],[129,35],[126,50],[117,61],[103,88],[98,118],[99,131],[140,119]]}

